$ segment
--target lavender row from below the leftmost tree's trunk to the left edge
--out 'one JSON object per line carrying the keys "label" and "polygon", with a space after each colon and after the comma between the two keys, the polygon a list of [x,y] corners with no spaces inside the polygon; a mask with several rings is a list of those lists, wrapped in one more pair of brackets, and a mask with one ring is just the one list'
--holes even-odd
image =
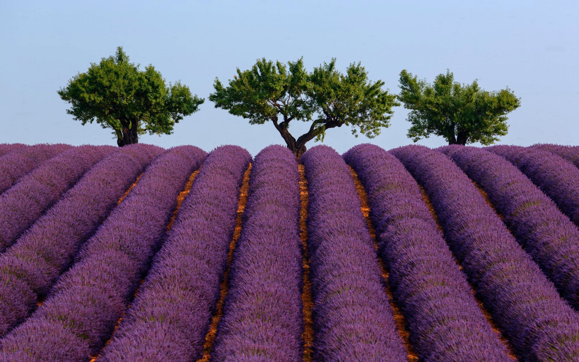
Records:
{"label": "lavender row from below the leftmost tree's trunk to the left edge", "polygon": [[0,336],[27,317],[161,148],[123,147],[91,168],[0,255]]}

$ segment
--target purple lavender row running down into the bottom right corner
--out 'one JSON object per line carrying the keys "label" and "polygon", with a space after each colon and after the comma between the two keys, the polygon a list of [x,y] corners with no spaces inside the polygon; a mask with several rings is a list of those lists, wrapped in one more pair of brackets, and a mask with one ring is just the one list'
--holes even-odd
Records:
{"label": "purple lavender row running down into the bottom right corner", "polygon": [[444,154],[390,151],[430,196],[456,257],[522,361],[576,361],[579,317],[508,232],[475,185]]}

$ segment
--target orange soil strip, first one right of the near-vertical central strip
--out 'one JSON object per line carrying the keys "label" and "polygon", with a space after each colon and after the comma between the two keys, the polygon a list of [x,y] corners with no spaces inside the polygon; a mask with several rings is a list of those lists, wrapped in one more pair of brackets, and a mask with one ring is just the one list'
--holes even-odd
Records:
{"label": "orange soil strip, first one right of the near-vertical central strip", "polygon": [[[370,220],[370,206],[368,206],[368,195],[366,193],[366,190],[364,189],[364,186],[362,186],[360,179],[358,179],[358,174],[356,173],[356,171],[354,171],[354,169],[350,165],[348,165],[348,167],[350,169],[350,174],[352,175],[352,178],[354,179],[354,184],[356,185],[356,191],[358,192],[358,196],[360,197],[360,202],[362,204],[360,209],[362,210],[362,214],[364,214],[364,218],[366,220],[366,224],[368,225],[368,230],[370,232],[370,236],[372,236],[372,240],[374,242],[374,248],[376,251],[378,251],[378,243],[376,242],[376,230],[374,229],[374,226],[372,226],[372,221]],[[390,285],[388,284],[389,272],[386,269],[386,265],[384,265],[382,258],[378,258],[378,262],[380,264],[380,269],[382,269],[382,277],[384,279],[384,286],[386,289],[386,294],[388,295],[388,300],[390,301],[392,313],[394,315],[394,321],[396,323],[396,329],[398,330],[398,334],[402,338],[402,342],[404,342],[404,346],[406,347],[406,353],[407,353],[406,357],[408,358],[409,362],[417,362],[418,361],[418,354],[416,353],[416,351],[412,347],[411,343],[409,342],[410,333],[408,332],[408,330],[406,330],[406,320],[404,318],[404,315],[402,315],[400,308],[398,308],[398,305],[394,301],[392,291],[390,290]]]}

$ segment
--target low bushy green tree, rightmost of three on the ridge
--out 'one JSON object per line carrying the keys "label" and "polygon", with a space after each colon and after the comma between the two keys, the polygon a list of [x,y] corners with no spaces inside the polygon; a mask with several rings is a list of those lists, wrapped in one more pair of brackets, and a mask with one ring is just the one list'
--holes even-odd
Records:
{"label": "low bushy green tree, rightmost of three on the ridge", "polygon": [[507,134],[507,114],[521,105],[510,89],[488,92],[475,80],[470,85],[454,82],[453,74],[439,74],[434,84],[400,72],[400,96],[404,108],[412,109],[407,136],[414,142],[431,134],[442,136],[448,144],[481,142],[491,145],[497,136]]}

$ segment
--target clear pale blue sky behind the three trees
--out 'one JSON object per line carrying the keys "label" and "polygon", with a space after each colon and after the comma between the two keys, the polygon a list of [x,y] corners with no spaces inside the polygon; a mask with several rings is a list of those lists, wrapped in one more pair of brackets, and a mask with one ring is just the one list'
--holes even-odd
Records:
{"label": "clear pale blue sky behind the three trees", "polygon": [[[579,144],[578,1],[0,1],[0,142],[116,144],[109,130],[81,126],[56,91],[89,63],[123,46],[131,61],[153,64],[207,98],[216,76],[232,78],[256,58],[296,60],[306,67],[361,61],[373,81],[398,93],[406,69],[433,81],[447,68],[456,81],[475,78],[486,90],[509,86],[522,98],[501,143]],[[408,111],[368,140],[348,127],[328,130],[325,144],[344,152],[370,141],[409,144]],[[294,136],[305,123],[290,128]],[[271,123],[215,109],[206,100],[170,136],[140,142],[209,151],[238,144],[255,155],[283,141]],[[441,137],[419,142],[445,144]],[[313,141],[308,144],[313,145]]]}

